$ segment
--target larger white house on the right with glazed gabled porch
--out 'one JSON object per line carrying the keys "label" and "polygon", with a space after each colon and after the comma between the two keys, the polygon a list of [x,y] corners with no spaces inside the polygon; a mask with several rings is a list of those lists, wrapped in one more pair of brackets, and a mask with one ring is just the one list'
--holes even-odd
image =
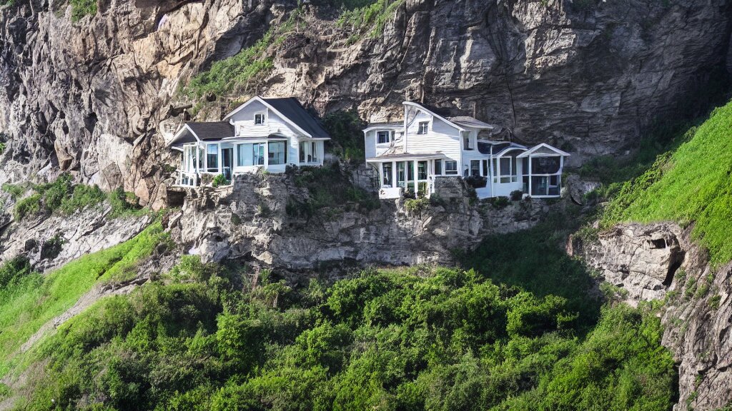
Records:
{"label": "larger white house on the right with glazed gabled porch", "polygon": [[403,102],[404,119],[370,123],[363,130],[366,162],[379,174],[379,197],[398,198],[405,190],[435,191],[436,178],[477,177],[479,198],[559,197],[564,151],[542,143],[526,147],[492,140],[496,127],[472,117],[444,117],[416,102]]}

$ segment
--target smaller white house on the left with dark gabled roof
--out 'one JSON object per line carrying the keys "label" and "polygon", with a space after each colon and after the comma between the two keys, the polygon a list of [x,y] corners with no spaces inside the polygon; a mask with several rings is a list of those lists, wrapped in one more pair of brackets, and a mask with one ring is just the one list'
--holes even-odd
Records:
{"label": "smaller white house on the left with dark gabled roof", "polygon": [[198,186],[201,176],[323,165],[328,133],[294,97],[253,97],[223,121],[188,122],[168,146],[182,151],[177,184]]}

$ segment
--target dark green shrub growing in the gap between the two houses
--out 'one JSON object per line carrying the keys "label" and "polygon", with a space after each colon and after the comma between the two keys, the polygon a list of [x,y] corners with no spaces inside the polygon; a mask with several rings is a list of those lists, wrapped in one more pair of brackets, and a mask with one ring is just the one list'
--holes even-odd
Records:
{"label": "dark green shrub growing in the gap between the two houses", "polygon": [[365,122],[356,110],[337,110],[326,114],[323,127],[332,140],[326,149],[349,162],[364,162],[365,148],[362,129]]}

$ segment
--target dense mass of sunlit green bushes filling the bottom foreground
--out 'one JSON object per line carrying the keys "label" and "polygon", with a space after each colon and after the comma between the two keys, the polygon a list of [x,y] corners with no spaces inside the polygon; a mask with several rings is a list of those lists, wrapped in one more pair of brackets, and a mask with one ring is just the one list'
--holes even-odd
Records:
{"label": "dense mass of sunlit green bushes filling the bottom foreground", "polygon": [[595,325],[567,298],[472,270],[364,271],[299,289],[263,272],[243,291],[239,271],[188,256],[99,301],[34,353],[47,374],[20,407],[671,408],[673,358],[651,306],[606,306]]}

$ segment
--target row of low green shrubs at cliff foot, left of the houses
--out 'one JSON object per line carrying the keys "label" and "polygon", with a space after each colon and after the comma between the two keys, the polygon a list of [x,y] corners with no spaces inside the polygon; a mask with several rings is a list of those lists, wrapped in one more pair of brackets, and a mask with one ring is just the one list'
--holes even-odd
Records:
{"label": "row of low green shrubs at cliff foot, left of the houses", "polygon": [[[2,189],[10,193],[13,198],[18,198],[28,191],[26,186],[20,184],[3,184]],[[20,220],[42,211],[49,214],[54,211],[73,214],[87,207],[100,206],[105,200],[112,208],[109,214],[111,218],[143,212],[136,206],[137,199],[132,193],[118,188],[105,195],[96,185],[72,184],[72,177],[68,173],[61,174],[51,183],[34,185],[32,189],[33,194],[15,203],[15,219]]]}

